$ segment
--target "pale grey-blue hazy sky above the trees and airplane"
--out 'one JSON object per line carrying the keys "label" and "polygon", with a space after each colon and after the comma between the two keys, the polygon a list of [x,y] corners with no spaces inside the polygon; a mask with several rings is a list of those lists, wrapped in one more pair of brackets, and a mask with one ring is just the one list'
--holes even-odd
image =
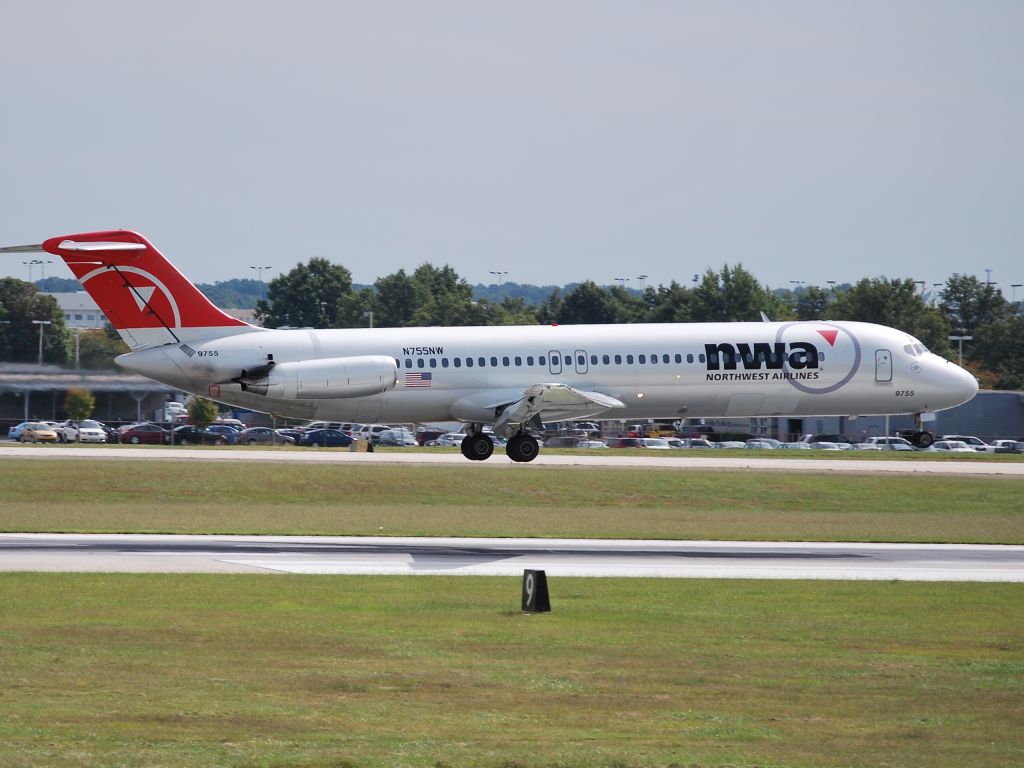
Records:
{"label": "pale grey-blue hazy sky above the trees and airplane", "polygon": [[[3,19],[0,245],[134,229],[204,283],[313,256],[356,283],[424,262],[473,284],[725,264],[770,288],[1024,283],[1016,0],[11,1]],[[0,275],[28,279],[24,258]]]}

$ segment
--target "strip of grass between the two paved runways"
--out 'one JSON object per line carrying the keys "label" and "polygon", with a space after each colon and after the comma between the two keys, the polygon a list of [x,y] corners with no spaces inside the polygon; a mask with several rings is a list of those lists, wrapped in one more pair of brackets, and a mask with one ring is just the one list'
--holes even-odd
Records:
{"label": "strip of grass between the two paved runways", "polygon": [[7,461],[0,530],[1024,543],[1024,480]]}

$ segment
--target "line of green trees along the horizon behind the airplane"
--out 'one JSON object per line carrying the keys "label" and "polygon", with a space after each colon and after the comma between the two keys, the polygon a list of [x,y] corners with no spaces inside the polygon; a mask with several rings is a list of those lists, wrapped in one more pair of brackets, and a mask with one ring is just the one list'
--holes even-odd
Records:
{"label": "line of green trees along the horizon behind the airplane", "polygon": [[[643,291],[586,281],[547,287],[540,294],[532,287],[530,294],[525,286],[508,284],[507,291],[490,286],[481,296],[479,286],[474,288],[447,265],[425,263],[412,272],[399,269],[379,278],[372,286],[356,286],[343,265],[314,257],[269,281],[265,298],[256,301],[256,312],[266,328],[756,322],[762,314],[773,321],[862,321],[906,331],[954,360],[959,342],[949,337],[970,336],[964,342],[964,365],[983,386],[1024,389],[1021,302],[1008,301],[997,287],[975,276],[953,274],[930,296],[912,280],[885,278],[772,290],[741,264],[694,276],[692,286],[672,282]],[[238,300],[254,284],[257,290],[264,288],[251,280],[228,281],[223,294]],[[227,305],[216,298],[214,302]],[[0,280],[0,361],[37,359],[38,326],[33,319],[52,324],[44,331],[43,359],[73,364],[74,334],[65,326],[56,301],[36,285],[14,278]],[[110,329],[82,333],[79,346],[83,368],[110,368],[114,356],[127,351]]]}

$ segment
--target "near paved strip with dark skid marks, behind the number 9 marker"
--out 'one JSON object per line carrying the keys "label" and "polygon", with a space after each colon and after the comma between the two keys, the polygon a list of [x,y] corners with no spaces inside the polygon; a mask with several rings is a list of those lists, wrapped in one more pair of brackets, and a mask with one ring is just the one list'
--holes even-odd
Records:
{"label": "near paved strip with dark skid marks, behind the number 9 marker", "polygon": [[1024,582],[1024,547],[567,539],[0,535],[0,570]]}

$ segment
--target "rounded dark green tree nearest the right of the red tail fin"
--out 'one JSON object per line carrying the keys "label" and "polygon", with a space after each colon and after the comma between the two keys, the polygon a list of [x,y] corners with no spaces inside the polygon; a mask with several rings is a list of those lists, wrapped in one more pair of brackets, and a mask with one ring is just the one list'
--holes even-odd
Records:
{"label": "rounded dark green tree nearest the right of the red tail fin", "polygon": [[266,328],[338,328],[339,301],[351,290],[348,269],[313,257],[270,281],[267,298],[256,302],[256,315]]}

